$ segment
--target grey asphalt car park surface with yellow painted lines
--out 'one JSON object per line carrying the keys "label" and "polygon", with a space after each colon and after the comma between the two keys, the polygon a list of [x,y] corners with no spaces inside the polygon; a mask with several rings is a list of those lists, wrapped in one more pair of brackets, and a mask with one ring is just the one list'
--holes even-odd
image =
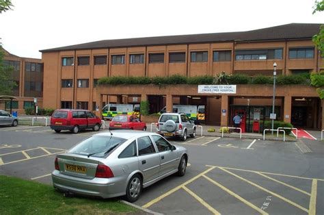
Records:
{"label": "grey asphalt car park surface with yellow painted lines", "polygon": [[[51,184],[55,155],[92,134],[0,127],[0,174]],[[320,140],[203,134],[170,142],[189,151],[186,175],[172,175],[144,189],[136,205],[163,214],[324,214]]]}

